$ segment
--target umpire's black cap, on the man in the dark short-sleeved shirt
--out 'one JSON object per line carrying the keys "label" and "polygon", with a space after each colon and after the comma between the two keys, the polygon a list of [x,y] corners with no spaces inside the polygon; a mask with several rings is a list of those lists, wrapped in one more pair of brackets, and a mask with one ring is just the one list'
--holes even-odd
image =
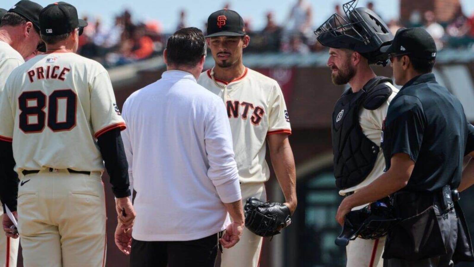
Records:
{"label": "umpire's black cap, on the man in the dark short-sleeved shirt", "polygon": [[423,28],[400,28],[393,38],[392,45],[380,48],[388,54],[412,55],[422,59],[436,58],[436,44],[431,35]]}

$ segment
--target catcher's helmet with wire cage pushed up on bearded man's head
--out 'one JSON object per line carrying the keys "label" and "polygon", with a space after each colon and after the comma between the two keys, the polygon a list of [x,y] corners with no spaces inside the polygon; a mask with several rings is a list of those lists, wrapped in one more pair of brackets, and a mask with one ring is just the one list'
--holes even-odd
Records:
{"label": "catcher's helmet with wire cage pushed up on bearded man's head", "polygon": [[369,60],[369,64],[388,62],[388,54],[380,48],[390,45],[393,34],[383,20],[364,7],[356,8],[358,0],[351,0],[343,5],[346,18],[334,13],[314,34],[325,47],[347,48],[359,52]]}

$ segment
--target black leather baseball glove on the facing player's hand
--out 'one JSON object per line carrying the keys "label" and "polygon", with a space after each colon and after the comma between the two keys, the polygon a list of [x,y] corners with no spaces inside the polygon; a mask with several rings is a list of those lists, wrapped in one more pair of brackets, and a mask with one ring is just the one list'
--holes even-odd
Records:
{"label": "black leather baseball glove on the facing player's hand", "polygon": [[280,203],[249,198],[244,206],[245,227],[255,235],[273,237],[292,223],[290,209]]}

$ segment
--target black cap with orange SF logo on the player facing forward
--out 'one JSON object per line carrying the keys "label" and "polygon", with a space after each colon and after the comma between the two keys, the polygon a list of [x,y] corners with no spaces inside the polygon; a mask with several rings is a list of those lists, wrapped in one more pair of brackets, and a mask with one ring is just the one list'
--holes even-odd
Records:
{"label": "black cap with orange SF logo on the player facing forward", "polygon": [[205,38],[217,36],[244,36],[244,19],[234,10],[218,10],[210,14]]}

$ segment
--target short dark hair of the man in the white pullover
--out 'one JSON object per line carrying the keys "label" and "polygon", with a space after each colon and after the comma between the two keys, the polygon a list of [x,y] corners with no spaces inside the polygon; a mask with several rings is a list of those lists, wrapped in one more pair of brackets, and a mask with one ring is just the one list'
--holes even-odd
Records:
{"label": "short dark hair of the man in the white pullover", "polygon": [[193,67],[205,55],[206,39],[198,28],[179,29],[168,38],[166,44],[168,65]]}

